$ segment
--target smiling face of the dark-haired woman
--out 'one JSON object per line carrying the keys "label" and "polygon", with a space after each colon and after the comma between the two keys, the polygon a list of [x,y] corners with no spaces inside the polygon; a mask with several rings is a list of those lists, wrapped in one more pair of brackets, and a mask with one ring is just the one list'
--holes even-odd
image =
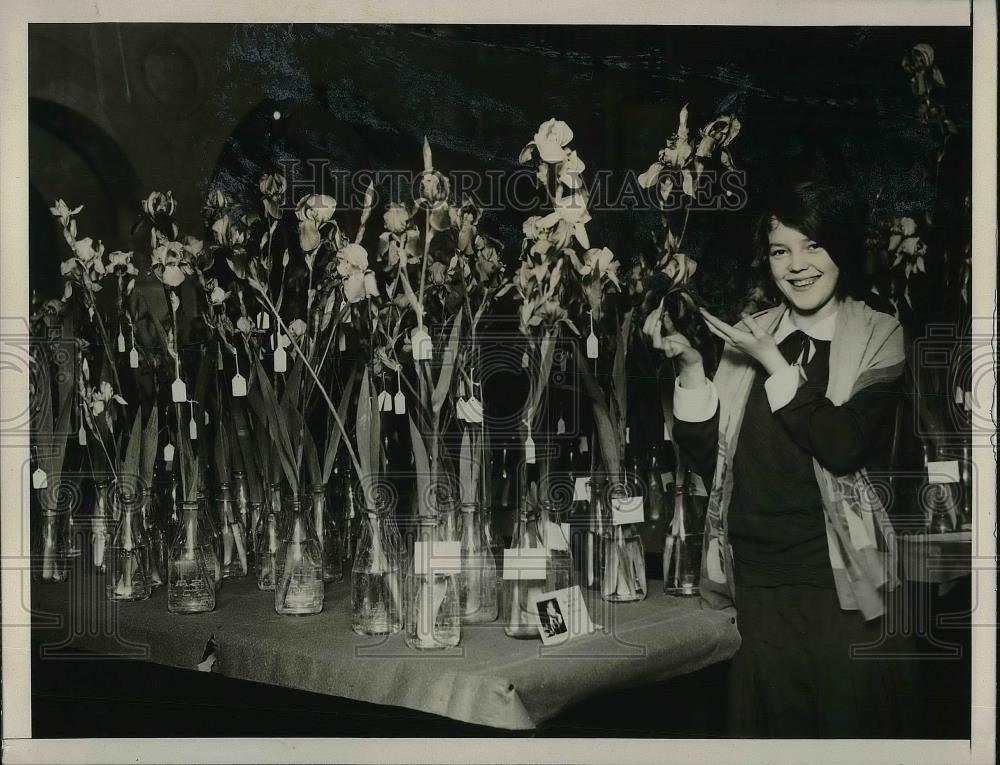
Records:
{"label": "smiling face of the dark-haired woman", "polygon": [[840,269],[808,236],[780,221],[768,234],[771,277],[793,311],[822,318],[836,310]]}

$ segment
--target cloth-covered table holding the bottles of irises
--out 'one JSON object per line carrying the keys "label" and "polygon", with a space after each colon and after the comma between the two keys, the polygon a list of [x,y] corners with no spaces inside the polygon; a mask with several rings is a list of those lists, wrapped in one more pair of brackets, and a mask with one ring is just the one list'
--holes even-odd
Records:
{"label": "cloth-covered table holding the bottles of irises", "polygon": [[213,672],[508,730],[534,729],[601,691],[724,661],[740,644],[734,613],[667,596],[660,582],[639,603],[588,597],[602,629],[561,646],[508,638],[498,621],[464,625],[461,645],[444,652],[410,650],[399,634],[355,635],[346,581],[328,586],[323,612],[307,617],[276,614],[272,593],[252,578],[227,580],[208,614],[168,613],[163,588],[139,603],[100,595],[97,578],[82,571],[32,587],[36,623],[59,624],[43,658],[86,650],[194,669],[214,637]]}

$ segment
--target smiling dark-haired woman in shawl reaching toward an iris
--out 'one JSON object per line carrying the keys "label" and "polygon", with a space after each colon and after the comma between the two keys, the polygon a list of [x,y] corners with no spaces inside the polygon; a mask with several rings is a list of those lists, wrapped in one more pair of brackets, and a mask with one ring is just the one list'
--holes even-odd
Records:
{"label": "smiling dark-haired woman in shawl reaching toward an iris", "polygon": [[730,326],[714,380],[654,312],[674,360],[674,436],[712,486],[701,591],[735,606],[729,730],[753,737],[893,737],[900,667],[852,657],[881,645],[897,584],[893,532],[865,465],[889,448],[900,392],[899,324],[867,306],[857,206],[804,183],[771,200],[754,234],[779,304]]}

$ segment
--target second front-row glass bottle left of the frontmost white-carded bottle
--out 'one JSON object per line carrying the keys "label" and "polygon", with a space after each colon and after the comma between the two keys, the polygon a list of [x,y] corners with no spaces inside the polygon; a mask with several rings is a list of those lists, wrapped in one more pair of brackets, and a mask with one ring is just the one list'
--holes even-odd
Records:
{"label": "second front-row glass bottle left of the frontmost white-carded bottle", "polygon": [[298,494],[285,500],[285,533],[278,545],[274,610],[286,616],[323,610],[323,552]]}

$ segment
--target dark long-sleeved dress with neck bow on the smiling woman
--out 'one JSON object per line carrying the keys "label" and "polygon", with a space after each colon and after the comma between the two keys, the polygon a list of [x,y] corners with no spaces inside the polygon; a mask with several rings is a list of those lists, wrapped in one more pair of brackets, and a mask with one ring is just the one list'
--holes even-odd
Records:
{"label": "dark long-sleeved dress with neck bow on the smiling woman", "polygon": [[[851,657],[851,646],[880,642],[882,620],[840,607],[812,460],[836,474],[877,460],[889,446],[899,381],[834,406],[826,398],[830,343],[795,331],[779,348],[791,363],[810,342],[806,379],[776,412],[766,373],[757,373],[733,457],[728,525],[743,642],[732,662],[728,729],[755,738],[893,738],[903,735],[899,695],[910,685],[892,662]],[[718,431],[718,410],[705,422],[675,421],[674,437],[706,484]]]}

